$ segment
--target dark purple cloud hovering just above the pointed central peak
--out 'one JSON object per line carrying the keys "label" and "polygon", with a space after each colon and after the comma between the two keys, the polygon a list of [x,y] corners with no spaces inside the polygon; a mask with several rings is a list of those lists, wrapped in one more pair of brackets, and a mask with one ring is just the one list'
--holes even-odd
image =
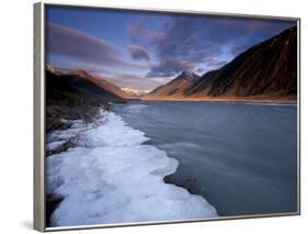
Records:
{"label": "dark purple cloud hovering just above the pointed central peak", "polygon": [[166,58],[153,66],[146,77],[172,77],[183,70],[193,70],[194,64],[178,60],[175,58]]}

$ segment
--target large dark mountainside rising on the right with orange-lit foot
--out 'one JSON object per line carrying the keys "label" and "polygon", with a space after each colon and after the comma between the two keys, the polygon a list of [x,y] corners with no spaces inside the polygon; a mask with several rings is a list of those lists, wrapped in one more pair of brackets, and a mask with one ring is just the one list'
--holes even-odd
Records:
{"label": "large dark mountainside rising on the right with orange-lit foot", "polygon": [[[297,29],[287,29],[252,46],[220,69],[208,71],[185,87],[175,82],[172,90],[178,89],[181,92],[173,93],[179,99],[296,100]],[[150,94],[148,99],[172,97],[170,92],[157,90]]]}

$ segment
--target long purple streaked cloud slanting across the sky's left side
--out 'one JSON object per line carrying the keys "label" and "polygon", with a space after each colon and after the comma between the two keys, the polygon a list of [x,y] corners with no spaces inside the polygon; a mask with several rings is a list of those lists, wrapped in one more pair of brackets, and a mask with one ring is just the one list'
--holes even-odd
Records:
{"label": "long purple streaked cloud slanting across the sky's left side", "polygon": [[72,63],[126,68],[147,67],[140,63],[124,60],[119,46],[82,31],[48,23],[46,37],[48,63],[53,63],[53,56],[65,56]]}

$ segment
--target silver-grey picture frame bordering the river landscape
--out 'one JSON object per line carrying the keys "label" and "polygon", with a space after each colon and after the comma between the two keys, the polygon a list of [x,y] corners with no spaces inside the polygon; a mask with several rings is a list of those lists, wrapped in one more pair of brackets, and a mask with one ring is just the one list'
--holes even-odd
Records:
{"label": "silver-grey picture frame bordering the river landscape", "polygon": [[[118,222],[107,224],[80,224],[80,225],[59,225],[48,226],[46,214],[46,9],[48,8],[79,8],[93,9],[96,11],[119,11],[128,13],[146,13],[146,14],[175,14],[190,16],[214,16],[214,18],[230,18],[230,19],[254,19],[258,20],[273,20],[283,22],[293,22],[296,24],[296,79],[297,79],[297,97],[296,97],[296,210],[292,212],[277,213],[261,213],[261,214],[239,214],[239,215],[223,215],[216,218],[199,218],[199,219],[181,219],[181,220],[163,220],[163,221],[140,221],[140,222]],[[171,66],[171,65],[170,65]],[[170,100],[169,100],[170,101]],[[215,100],[214,100],[215,101]],[[231,100],[233,101],[233,100]],[[248,14],[232,14],[232,13],[215,13],[203,11],[180,11],[180,10],[164,10],[164,9],[139,9],[139,8],[116,8],[104,5],[88,5],[88,4],[67,4],[53,3],[48,1],[38,2],[34,4],[34,229],[37,231],[59,231],[59,230],[80,230],[80,229],[98,229],[98,227],[113,227],[113,226],[132,226],[132,225],[149,225],[149,224],[168,224],[168,223],[184,223],[184,222],[204,222],[216,220],[232,220],[232,219],[250,219],[250,218],[267,218],[267,216],[283,216],[283,215],[299,215],[300,214],[300,19],[285,18],[285,16],[270,16],[270,15],[248,15]],[[180,185],[181,187],[181,185]]]}

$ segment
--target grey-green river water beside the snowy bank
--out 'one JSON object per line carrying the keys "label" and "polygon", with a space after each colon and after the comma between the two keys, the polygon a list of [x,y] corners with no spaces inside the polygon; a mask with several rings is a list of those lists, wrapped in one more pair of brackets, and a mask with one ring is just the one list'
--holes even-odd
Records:
{"label": "grey-green river water beside the snowy bank", "polygon": [[219,215],[297,211],[297,105],[142,101],[113,111],[178,159],[168,182]]}

